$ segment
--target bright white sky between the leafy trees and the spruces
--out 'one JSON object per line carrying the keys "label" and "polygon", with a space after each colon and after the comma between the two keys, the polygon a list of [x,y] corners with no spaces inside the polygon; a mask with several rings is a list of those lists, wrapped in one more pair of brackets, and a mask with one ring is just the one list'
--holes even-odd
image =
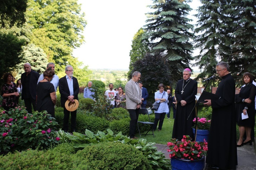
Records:
{"label": "bright white sky between the leafy trees and the spruces", "polygon": [[[128,70],[134,34],[146,24],[145,13],[150,11],[147,5],[152,0],[78,2],[82,4],[87,24],[83,32],[85,43],[74,49],[73,56],[88,65],[89,69]],[[196,9],[199,4],[199,0],[192,0],[190,6]],[[195,11],[191,11],[192,14]]]}

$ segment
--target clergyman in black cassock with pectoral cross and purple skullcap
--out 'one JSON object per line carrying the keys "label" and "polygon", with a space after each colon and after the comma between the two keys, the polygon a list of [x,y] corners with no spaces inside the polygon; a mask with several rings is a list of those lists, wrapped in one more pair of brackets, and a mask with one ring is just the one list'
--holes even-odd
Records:
{"label": "clergyman in black cassock with pectoral cross and purple skullcap", "polygon": [[[197,81],[190,78],[192,72],[189,68],[183,70],[183,79],[179,80],[175,89],[177,99],[176,115],[174,119],[172,138],[182,139],[183,135],[194,138],[192,132],[193,119],[195,118],[195,95]],[[192,114],[190,115],[190,113]],[[189,119],[187,120],[188,116]]]}

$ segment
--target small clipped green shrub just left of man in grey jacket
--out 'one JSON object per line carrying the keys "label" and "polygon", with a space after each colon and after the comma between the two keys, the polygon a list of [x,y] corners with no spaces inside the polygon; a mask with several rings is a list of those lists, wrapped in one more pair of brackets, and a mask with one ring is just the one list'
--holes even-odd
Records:
{"label": "small clipped green shrub just left of man in grey jacket", "polygon": [[129,136],[130,120],[130,118],[113,120],[109,123],[109,129],[111,129],[115,134],[122,132],[123,135]]}

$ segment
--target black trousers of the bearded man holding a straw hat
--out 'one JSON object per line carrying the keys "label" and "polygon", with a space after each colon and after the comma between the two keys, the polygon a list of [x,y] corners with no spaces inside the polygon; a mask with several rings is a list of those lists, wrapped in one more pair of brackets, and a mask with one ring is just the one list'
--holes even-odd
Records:
{"label": "black trousers of the bearded man holding a straw hat", "polygon": [[69,115],[71,114],[71,130],[76,129],[76,110],[73,112],[68,111],[64,108],[64,118],[63,118],[63,130],[68,131],[69,129]]}

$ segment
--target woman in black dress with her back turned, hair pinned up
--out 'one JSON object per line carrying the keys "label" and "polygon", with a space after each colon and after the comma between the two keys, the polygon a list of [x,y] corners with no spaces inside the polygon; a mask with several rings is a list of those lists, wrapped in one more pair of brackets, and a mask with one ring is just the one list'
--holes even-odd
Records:
{"label": "woman in black dress with her back turned, hair pinned up", "polygon": [[56,92],[50,81],[53,79],[54,74],[52,67],[49,67],[44,72],[44,79],[39,81],[36,86],[36,110],[38,112],[46,110],[52,117],[55,116]]}

